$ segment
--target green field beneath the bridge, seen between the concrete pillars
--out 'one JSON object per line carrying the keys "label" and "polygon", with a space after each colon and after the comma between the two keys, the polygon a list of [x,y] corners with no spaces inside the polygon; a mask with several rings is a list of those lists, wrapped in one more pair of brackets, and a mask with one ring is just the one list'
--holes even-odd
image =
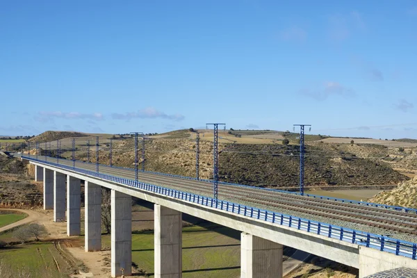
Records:
{"label": "green field beneath the bridge, seen between the concrete pillars", "polygon": [[[240,232],[204,224],[183,228],[183,277],[240,277]],[[103,244],[111,245],[110,236]],[[154,232],[132,235],[132,261],[154,277]]]}

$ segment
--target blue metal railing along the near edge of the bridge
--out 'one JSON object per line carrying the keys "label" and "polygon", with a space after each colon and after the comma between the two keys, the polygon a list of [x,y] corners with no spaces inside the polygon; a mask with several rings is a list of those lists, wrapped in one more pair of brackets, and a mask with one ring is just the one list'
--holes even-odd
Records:
{"label": "blue metal railing along the near edge of the bridge", "polygon": [[138,188],[141,190],[147,190],[159,195],[165,195],[177,199],[182,199],[186,202],[192,202],[202,206],[208,206],[211,208],[217,208],[222,211],[230,213],[236,213],[256,220],[262,220],[266,222],[272,222],[286,227],[298,229],[300,231],[307,231],[309,233],[318,234],[320,236],[327,236],[328,238],[335,238],[345,241],[347,243],[354,243],[377,249],[384,252],[396,254],[398,256],[406,256],[413,260],[416,259],[417,244],[404,240],[398,240],[395,238],[389,238],[387,236],[381,236],[377,234],[370,234],[364,231],[357,231],[354,229],[347,229],[343,227],[334,226],[327,223],[317,222],[313,220],[306,220],[304,218],[298,218],[292,215],[285,215],[283,213],[277,213],[273,211],[267,211],[261,208],[254,208],[252,206],[245,206],[243,204],[236,204],[233,202],[227,202],[223,200],[216,200],[211,197],[197,195],[193,193],[186,193],[179,190],[170,188],[164,188],[162,186],[154,186],[148,183],[141,183],[133,181],[131,179],[124,179],[122,177],[115,177],[109,174],[100,174],[80,168],[73,168],[67,165],[52,163],[49,161],[41,161],[40,159],[31,158],[28,156],[22,156],[22,158],[37,161],[46,165],[54,165],[58,168],[67,169],[73,172],[79,172],[91,177],[97,177],[106,181],[112,181],[120,183],[124,186]]}

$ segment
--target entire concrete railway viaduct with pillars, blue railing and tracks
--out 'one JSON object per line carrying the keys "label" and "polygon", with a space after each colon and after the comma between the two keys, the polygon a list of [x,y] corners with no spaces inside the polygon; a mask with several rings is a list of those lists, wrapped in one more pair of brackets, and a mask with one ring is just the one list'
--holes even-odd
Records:
{"label": "entire concrete railway viaduct with pillars, blue railing and tracks", "polygon": [[[319,200],[227,183],[219,185],[219,199],[213,199],[208,197],[210,181],[140,172],[136,182],[134,171],[126,168],[27,154],[22,161],[35,165],[35,179],[44,183],[44,209],[54,209],[54,221],[67,221],[68,236],[81,234],[85,181],[85,252],[101,250],[101,187],[111,189],[112,277],[122,275],[122,268],[131,275],[131,197],[154,203],[155,277],[181,277],[181,213],[242,232],[240,273],[245,278],[282,277],[284,245],[358,268],[359,277],[417,268],[416,243],[296,216],[298,210],[415,235],[417,211],[410,208]],[[293,215],[280,213],[288,208]]]}

